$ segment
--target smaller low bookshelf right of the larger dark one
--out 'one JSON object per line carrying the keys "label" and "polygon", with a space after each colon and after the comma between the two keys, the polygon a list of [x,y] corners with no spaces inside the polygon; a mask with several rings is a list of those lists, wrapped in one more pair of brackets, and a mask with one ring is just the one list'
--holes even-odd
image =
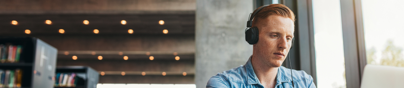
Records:
{"label": "smaller low bookshelf right of the larger dark one", "polygon": [[56,74],[62,73],[76,74],[76,85],[74,87],[55,86],[55,88],[97,88],[99,73],[89,66],[58,66]]}

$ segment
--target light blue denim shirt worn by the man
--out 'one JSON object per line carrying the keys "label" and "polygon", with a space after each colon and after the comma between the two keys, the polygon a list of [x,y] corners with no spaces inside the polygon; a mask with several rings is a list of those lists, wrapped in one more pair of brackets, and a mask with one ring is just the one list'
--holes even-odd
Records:
{"label": "light blue denim shirt worn by the man", "polygon": [[[316,88],[313,78],[302,70],[292,70],[295,88]],[[293,88],[290,69],[280,66],[276,74],[275,88]],[[210,77],[206,88],[264,88],[259,82],[251,65],[251,56],[247,63]]]}

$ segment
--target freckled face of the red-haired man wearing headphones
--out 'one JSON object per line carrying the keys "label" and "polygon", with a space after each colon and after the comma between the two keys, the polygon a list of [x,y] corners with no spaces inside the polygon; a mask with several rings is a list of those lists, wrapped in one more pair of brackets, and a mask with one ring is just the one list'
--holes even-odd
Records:
{"label": "freckled face of the red-haired man wearing headphones", "polygon": [[270,67],[280,67],[292,44],[294,30],[290,18],[271,15],[256,21],[259,40],[253,45],[253,54],[259,56],[260,62]]}

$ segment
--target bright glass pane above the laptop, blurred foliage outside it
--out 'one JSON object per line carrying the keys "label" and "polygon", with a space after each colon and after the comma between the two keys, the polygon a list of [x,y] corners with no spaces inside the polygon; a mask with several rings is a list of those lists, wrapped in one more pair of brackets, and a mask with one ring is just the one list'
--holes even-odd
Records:
{"label": "bright glass pane above the laptop, blurred foliage outside it", "polygon": [[362,0],[368,64],[404,67],[404,0]]}

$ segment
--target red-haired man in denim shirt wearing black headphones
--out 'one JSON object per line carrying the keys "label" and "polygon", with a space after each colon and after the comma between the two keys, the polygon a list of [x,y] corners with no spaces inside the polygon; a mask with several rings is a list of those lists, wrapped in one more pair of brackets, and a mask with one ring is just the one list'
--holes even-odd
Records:
{"label": "red-haired man in denim shirt wearing black headphones", "polygon": [[212,76],[206,88],[316,88],[306,72],[290,72],[281,66],[294,38],[293,12],[282,4],[271,4],[252,18],[252,27],[257,27],[259,35],[247,63]]}

